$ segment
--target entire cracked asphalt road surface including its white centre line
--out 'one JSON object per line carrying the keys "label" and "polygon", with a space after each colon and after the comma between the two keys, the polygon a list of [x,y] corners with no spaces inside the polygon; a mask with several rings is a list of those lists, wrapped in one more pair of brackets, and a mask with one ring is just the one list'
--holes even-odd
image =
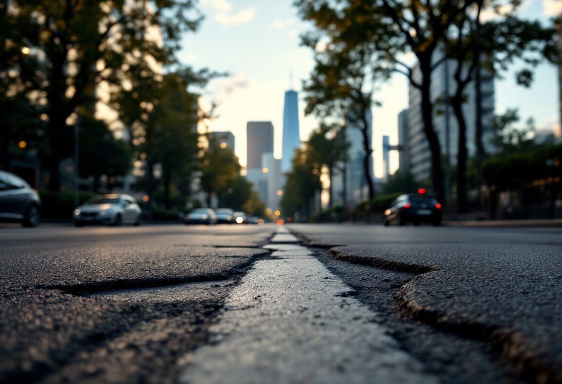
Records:
{"label": "entire cracked asphalt road surface including its white centre line", "polygon": [[561,228],[1,225],[0,290],[0,382],[562,382]]}

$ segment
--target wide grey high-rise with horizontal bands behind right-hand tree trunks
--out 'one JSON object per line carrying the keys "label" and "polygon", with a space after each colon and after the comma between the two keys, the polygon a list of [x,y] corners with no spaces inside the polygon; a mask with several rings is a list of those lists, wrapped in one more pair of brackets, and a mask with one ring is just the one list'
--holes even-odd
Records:
{"label": "wide grey high-rise with horizontal bands behind right-hand tree trunks", "polygon": [[[452,107],[444,102],[447,94],[454,93],[456,83],[454,71],[456,62],[443,61],[432,73],[432,99],[436,103],[433,116],[433,129],[436,131],[441,145],[441,153],[451,165],[457,161],[457,143],[459,140],[459,127],[452,111]],[[419,66],[413,67],[414,80],[420,81]],[[487,153],[493,153],[491,144],[492,118],[495,109],[493,76],[482,71],[482,143]],[[475,86],[470,83],[466,87],[466,102],[463,111],[466,120],[466,149],[468,156],[475,156],[475,130],[476,130],[476,104]],[[411,172],[416,180],[429,179],[431,172],[431,153],[424,132],[422,118],[422,95],[418,88],[410,85],[408,108],[409,135],[405,148],[410,156]],[[446,167],[447,168],[447,167]]]}

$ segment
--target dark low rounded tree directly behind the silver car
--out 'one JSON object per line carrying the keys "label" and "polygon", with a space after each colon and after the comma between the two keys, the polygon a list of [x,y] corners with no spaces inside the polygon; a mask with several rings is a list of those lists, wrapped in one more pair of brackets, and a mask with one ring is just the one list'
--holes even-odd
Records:
{"label": "dark low rounded tree directly behind the silver car", "polygon": [[93,117],[80,117],[80,177],[94,177],[93,190],[97,191],[99,178],[125,176],[131,168],[129,147],[115,139],[105,122]]}

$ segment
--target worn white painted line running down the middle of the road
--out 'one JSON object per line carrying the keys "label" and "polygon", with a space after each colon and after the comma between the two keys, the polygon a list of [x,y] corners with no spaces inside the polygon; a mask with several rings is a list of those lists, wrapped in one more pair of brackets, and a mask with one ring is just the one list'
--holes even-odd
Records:
{"label": "worn white painted line running down the middle of the road", "polygon": [[310,250],[269,244],[235,286],[210,344],[178,362],[180,383],[433,383],[376,313]]}

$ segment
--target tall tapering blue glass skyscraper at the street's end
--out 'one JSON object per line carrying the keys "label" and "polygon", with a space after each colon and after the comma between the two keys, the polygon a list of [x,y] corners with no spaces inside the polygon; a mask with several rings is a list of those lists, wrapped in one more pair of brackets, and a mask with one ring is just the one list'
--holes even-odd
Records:
{"label": "tall tapering blue glass skyscraper at the street's end", "polygon": [[283,151],[281,171],[291,170],[294,150],[301,148],[298,129],[298,93],[293,90],[285,92],[285,106],[283,109]]}

